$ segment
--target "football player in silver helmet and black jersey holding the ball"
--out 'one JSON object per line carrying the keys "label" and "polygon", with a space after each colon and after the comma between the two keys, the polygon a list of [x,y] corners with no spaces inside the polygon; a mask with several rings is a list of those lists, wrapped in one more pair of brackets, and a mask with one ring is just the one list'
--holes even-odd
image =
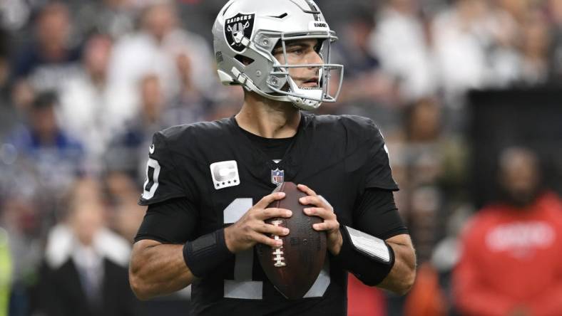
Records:
{"label": "football player in silver helmet and black jersey holding the ball", "polygon": [[[221,316],[346,315],[348,272],[406,293],[414,248],[381,133],[364,117],[301,112],[334,102],[342,80],[329,86],[342,65],[329,63],[336,37],[316,4],[231,0],[213,35],[219,77],[245,88],[244,104],[235,117],[154,135],[133,291],[148,299],[192,285],[193,315]],[[289,233],[265,223],[291,216],[267,208],[284,198],[271,194],[281,181],[300,184],[305,213],[324,220],[313,228],[327,233],[324,268],[299,300],[273,287],[253,251],[282,246],[271,235]]]}

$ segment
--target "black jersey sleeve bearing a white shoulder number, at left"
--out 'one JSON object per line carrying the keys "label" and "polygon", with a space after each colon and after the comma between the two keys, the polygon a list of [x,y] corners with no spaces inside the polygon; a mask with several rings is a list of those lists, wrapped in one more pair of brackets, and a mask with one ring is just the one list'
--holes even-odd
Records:
{"label": "black jersey sleeve bearing a white shoulder number, at left", "polygon": [[178,197],[196,202],[197,194],[189,185],[194,169],[190,159],[185,159],[170,145],[165,132],[156,132],[150,145],[143,194],[138,204],[146,206]]}

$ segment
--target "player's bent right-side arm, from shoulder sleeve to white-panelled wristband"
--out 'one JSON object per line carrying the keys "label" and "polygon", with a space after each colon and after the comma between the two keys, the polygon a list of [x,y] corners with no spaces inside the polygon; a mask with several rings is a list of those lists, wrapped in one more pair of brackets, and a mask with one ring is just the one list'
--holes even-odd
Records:
{"label": "player's bent right-side arm, from shoulder sleeve to white-panelled wristband", "polygon": [[[377,246],[359,253],[359,245],[352,241],[350,230],[342,229],[345,233],[342,252],[347,252],[346,256],[351,259],[349,270],[363,283],[404,294],[412,288],[416,276],[414,247],[394,203],[392,191],[396,191],[398,186],[392,179],[384,138],[371,120],[364,127],[364,135],[369,136],[364,152],[367,160],[362,169],[365,190],[353,211],[352,224],[358,231],[367,234],[367,241]],[[372,269],[364,270],[367,265]]]}

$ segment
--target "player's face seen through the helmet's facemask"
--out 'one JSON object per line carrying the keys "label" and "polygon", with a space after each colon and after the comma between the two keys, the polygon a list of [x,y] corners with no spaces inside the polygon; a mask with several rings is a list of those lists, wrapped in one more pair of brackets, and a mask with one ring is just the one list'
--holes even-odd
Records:
{"label": "player's face seen through the helmet's facemask", "polygon": [[[282,64],[298,65],[324,63],[320,54],[317,53],[320,51],[320,41],[317,39],[311,38],[288,41],[285,43],[285,46],[287,48],[287,60],[285,60],[285,56],[283,55],[282,47],[277,47],[273,50],[273,56]],[[289,68],[289,75],[298,87],[313,88],[318,86],[319,69],[318,67]]]}

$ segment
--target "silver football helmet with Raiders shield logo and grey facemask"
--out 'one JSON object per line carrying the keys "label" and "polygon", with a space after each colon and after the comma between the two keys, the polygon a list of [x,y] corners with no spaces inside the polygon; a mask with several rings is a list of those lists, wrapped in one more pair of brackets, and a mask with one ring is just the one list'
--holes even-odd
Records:
{"label": "silver football helmet with Raiders shield logo and grey facemask", "polygon": [[[337,40],[312,0],[230,0],[213,26],[218,75],[224,85],[242,85],[271,100],[291,102],[314,110],[322,102],[335,102],[342,87],[343,65],[329,63],[330,44]],[[272,54],[287,41],[315,38],[323,63],[280,63]],[[299,87],[290,68],[316,68],[317,85]],[[339,79],[330,88],[330,78]],[[315,79],[316,80],[316,79]]]}

